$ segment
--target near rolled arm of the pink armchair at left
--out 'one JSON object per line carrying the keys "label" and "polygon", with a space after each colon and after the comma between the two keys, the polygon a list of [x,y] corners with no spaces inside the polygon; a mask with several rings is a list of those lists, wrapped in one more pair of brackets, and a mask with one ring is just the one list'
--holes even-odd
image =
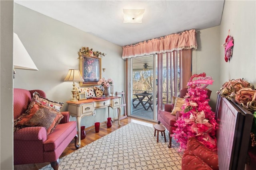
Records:
{"label": "near rolled arm of the pink armchair at left", "polygon": [[47,131],[45,127],[24,127],[14,132],[14,140],[42,140],[46,141]]}

